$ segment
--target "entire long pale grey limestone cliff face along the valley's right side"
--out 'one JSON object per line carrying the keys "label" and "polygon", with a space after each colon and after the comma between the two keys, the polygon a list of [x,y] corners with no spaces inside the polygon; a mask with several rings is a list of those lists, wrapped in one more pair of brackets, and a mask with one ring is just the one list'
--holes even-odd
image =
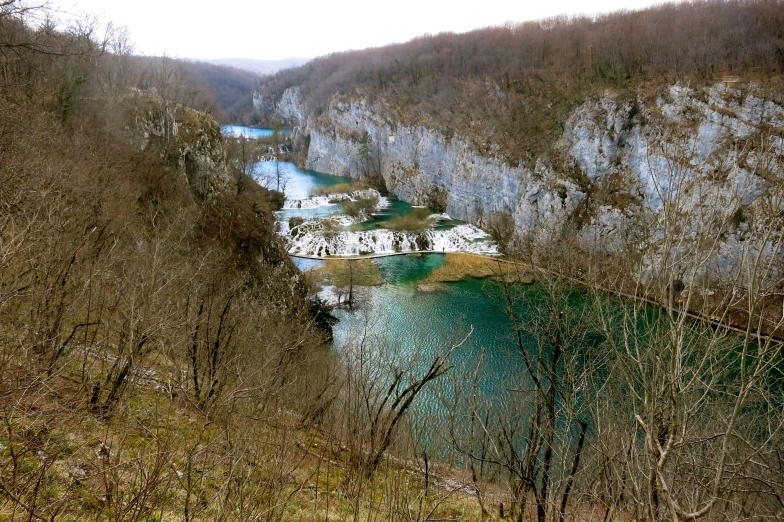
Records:
{"label": "entire long pale grey limestone cliff face along the valley's right side", "polygon": [[410,203],[480,226],[509,214],[518,233],[545,238],[570,227],[607,253],[628,244],[631,223],[675,214],[695,237],[709,221],[731,222],[724,239],[732,250],[765,226],[762,207],[784,208],[784,109],[753,86],[676,84],[654,96],[589,99],[533,167],[480,155],[459,130],[446,136],[397,124],[361,99],[333,99],[324,114],[306,117],[299,92],[289,89],[276,110],[309,135],[307,168],[353,178],[372,168]]}

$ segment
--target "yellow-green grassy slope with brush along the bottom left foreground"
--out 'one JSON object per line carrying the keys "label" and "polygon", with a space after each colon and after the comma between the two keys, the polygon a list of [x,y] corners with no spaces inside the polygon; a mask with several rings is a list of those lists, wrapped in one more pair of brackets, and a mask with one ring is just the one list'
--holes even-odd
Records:
{"label": "yellow-green grassy slope with brush along the bottom left foreground", "polygon": [[[99,364],[90,359],[82,363]],[[6,375],[38,377],[13,366]],[[260,410],[264,422],[218,410],[205,415],[160,386],[172,370],[156,361],[139,376],[122,414],[109,419],[72,401],[83,371],[77,360],[15,396],[0,442],[15,473],[40,481],[31,512],[59,512],[65,521],[403,520],[408,513],[420,513],[418,520],[482,519],[463,485],[467,477],[431,465],[426,478],[416,459],[391,456],[372,478],[357,475],[342,442],[305,426],[278,401]],[[6,484],[0,482],[0,498],[12,499]],[[0,503],[0,520],[28,520],[29,513],[16,502]]]}

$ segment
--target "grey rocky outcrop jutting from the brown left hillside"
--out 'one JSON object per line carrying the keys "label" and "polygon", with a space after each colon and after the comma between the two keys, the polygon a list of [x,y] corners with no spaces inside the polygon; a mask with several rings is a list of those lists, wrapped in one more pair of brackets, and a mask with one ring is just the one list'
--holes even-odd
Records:
{"label": "grey rocky outcrop jutting from the brown left hillside", "polygon": [[133,108],[133,141],[154,148],[167,163],[181,170],[201,197],[227,190],[231,177],[218,123],[180,104],[150,97]]}

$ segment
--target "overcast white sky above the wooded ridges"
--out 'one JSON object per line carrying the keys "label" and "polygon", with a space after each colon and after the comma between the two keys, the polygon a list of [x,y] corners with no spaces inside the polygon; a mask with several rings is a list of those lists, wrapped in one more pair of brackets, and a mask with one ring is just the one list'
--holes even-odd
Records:
{"label": "overcast white sky above the wooded ridges", "polygon": [[558,14],[662,0],[52,0],[60,16],[128,27],[136,53],[180,58],[315,57]]}

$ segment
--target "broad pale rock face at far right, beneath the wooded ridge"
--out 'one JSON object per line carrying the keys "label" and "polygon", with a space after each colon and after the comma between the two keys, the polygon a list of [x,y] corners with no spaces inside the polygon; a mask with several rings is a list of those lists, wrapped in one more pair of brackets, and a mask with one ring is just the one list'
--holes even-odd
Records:
{"label": "broad pale rock face at far right, beneath the wooded ridge", "polygon": [[587,180],[584,239],[612,251],[631,218],[669,215],[695,240],[734,221],[726,244],[764,226],[771,209],[762,207],[784,208],[783,136],[784,109],[760,91],[673,85],[651,105],[609,96],[583,104],[559,146]]}

